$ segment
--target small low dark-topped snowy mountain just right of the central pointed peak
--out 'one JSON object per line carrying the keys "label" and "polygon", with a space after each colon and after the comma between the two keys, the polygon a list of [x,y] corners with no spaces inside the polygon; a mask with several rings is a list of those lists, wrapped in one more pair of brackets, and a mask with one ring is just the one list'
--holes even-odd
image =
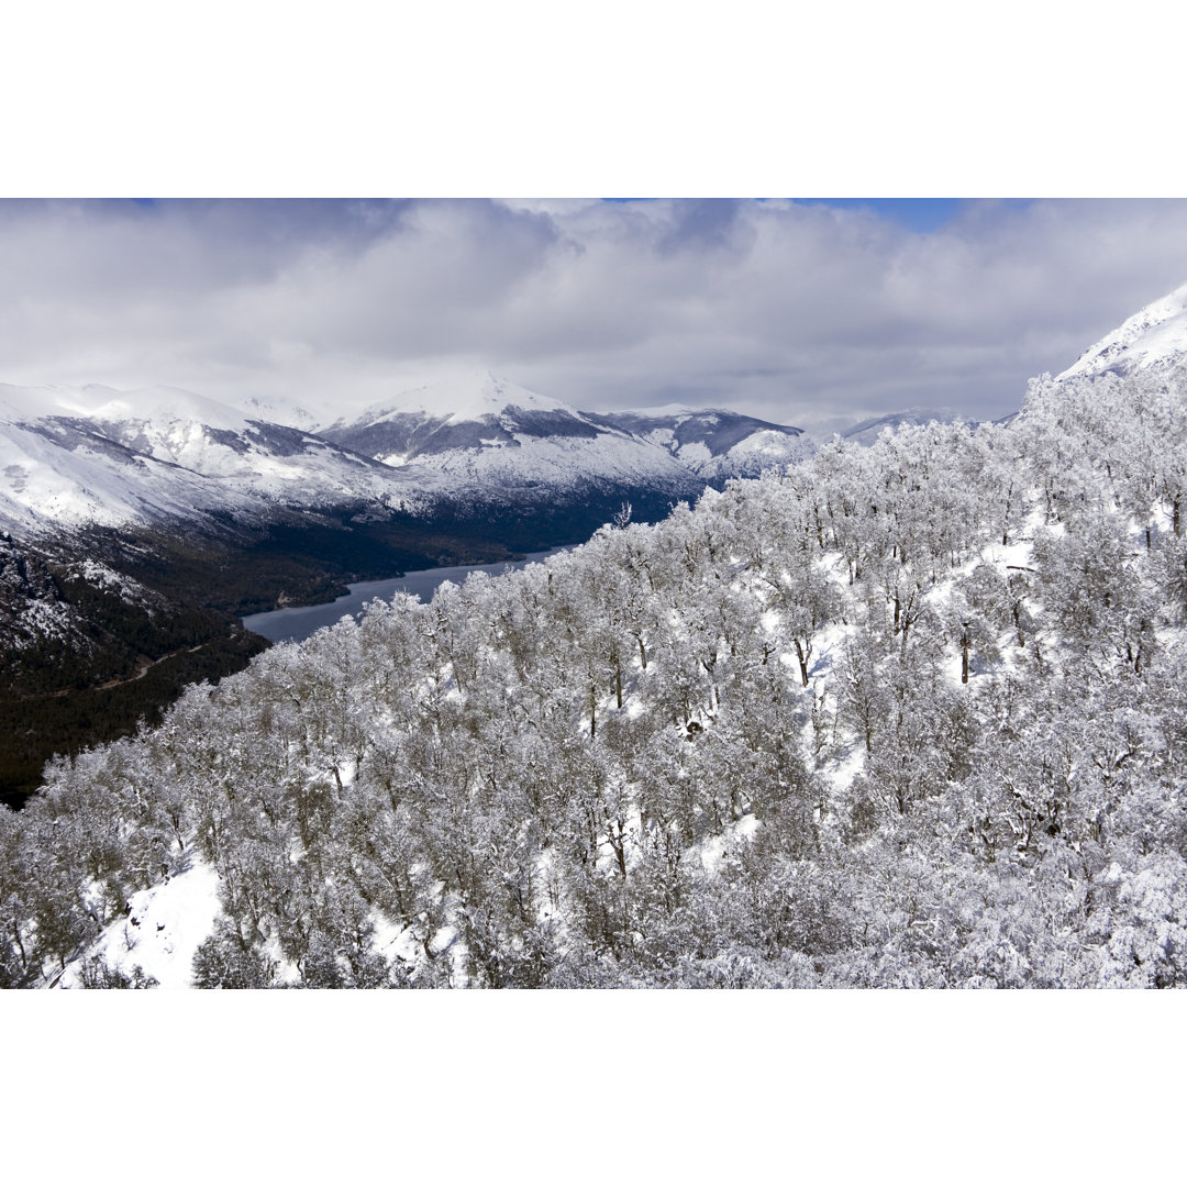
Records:
{"label": "small low dark-topped snowy mountain just right of the central pointed peak", "polygon": [[728,408],[668,405],[585,415],[595,424],[634,433],[661,446],[709,482],[756,478],[772,466],[802,462],[814,450],[802,429],[772,424]]}

